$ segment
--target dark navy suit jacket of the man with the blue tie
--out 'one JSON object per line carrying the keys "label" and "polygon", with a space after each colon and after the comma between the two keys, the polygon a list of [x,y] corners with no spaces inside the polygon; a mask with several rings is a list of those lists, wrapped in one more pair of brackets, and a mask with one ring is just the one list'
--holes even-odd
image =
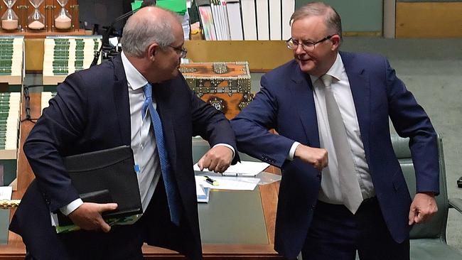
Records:
{"label": "dark navy suit jacket of the man with the blue tie", "polygon": [[[183,239],[184,234],[173,230],[167,214],[153,220],[146,242],[199,259],[202,251],[191,136],[200,135],[211,146],[228,143],[235,147],[234,133],[224,115],[199,99],[181,74],[155,85],[153,95],[183,205],[178,230],[188,231],[191,237]],[[11,231],[21,234],[33,256],[65,256],[60,235],[50,226],[50,211],[57,212],[79,196],[62,157],[130,144],[129,94],[120,56],[76,72],[58,86],[58,94],[50,100],[50,107],[44,109],[23,146],[36,182],[23,196],[10,226]]]}

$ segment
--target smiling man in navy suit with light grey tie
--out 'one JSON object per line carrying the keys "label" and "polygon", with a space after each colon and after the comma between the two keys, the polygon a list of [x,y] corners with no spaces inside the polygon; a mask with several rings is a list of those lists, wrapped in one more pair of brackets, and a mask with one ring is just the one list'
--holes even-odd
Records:
{"label": "smiling man in navy suit with light grey tie", "polygon": [[[343,260],[358,251],[361,259],[409,259],[412,224],[437,210],[436,134],[385,58],[339,52],[341,30],[331,6],[295,11],[287,40],[294,60],[264,75],[254,101],[231,121],[237,146],[282,170],[274,240],[280,254]],[[413,200],[389,117],[410,138]]]}

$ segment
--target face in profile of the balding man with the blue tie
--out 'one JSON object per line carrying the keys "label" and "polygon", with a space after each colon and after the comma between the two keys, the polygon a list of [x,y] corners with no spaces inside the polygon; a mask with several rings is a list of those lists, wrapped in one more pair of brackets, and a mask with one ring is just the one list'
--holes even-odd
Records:
{"label": "face in profile of the balding man with the blue tie", "polygon": [[159,48],[156,52],[155,70],[159,82],[170,80],[178,75],[178,67],[180,67],[181,62],[181,49],[184,44],[183,28],[181,26],[173,26],[173,36],[175,40],[171,45]]}

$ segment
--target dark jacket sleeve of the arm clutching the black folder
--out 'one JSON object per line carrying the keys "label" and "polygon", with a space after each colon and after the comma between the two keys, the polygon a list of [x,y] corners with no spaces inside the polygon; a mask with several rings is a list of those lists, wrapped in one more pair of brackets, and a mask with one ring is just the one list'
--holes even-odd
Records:
{"label": "dark jacket sleeve of the arm clutching the black folder", "polygon": [[80,84],[82,80],[77,73],[58,85],[58,94],[50,99],[49,107],[43,109],[23,146],[38,187],[52,212],[79,197],[60,154],[85,127],[87,100]]}

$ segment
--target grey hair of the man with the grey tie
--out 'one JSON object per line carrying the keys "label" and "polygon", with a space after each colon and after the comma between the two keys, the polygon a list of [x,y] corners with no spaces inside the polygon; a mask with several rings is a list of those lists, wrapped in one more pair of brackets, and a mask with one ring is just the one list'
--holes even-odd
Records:
{"label": "grey hair of the man with the grey tie", "polygon": [[329,30],[335,31],[335,34],[342,36],[342,19],[340,15],[333,9],[332,6],[324,4],[323,2],[312,2],[308,3],[301,8],[297,9],[291,16],[290,24],[294,21],[309,17],[309,16],[325,16],[324,23]]}

